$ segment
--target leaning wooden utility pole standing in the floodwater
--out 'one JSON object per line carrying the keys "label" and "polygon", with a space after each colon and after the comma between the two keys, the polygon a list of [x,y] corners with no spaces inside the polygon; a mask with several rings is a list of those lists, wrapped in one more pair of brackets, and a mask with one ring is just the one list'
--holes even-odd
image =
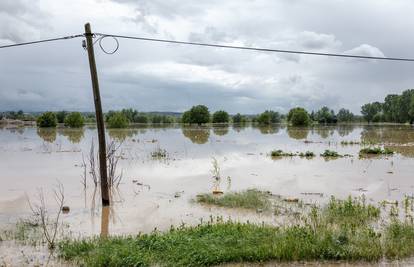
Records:
{"label": "leaning wooden utility pole standing in the floodwater", "polygon": [[98,127],[99,141],[99,172],[101,176],[101,195],[102,206],[109,206],[108,171],[106,166],[106,142],[105,125],[102,114],[101,95],[99,93],[98,73],[96,72],[95,52],[93,50],[93,40],[91,25],[85,24],[86,48],[88,50],[89,67],[91,69],[91,80],[93,89],[93,100],[95,102],[96,125]]}

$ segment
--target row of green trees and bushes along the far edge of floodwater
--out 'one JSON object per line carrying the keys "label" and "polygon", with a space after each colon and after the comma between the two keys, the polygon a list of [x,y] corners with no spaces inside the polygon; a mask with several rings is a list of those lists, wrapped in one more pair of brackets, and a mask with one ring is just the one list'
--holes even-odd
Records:
{"label": "row of green trees and bushes along the far edge of floodwater", "polygon": [[[294,126],[307,126],[315,123],[332,124],[348,122],[394,122],[414,123],[414,89],[405,90],[400,95],[389,94],[384,102],[367,103],[361,107],[361,114],[355,115],[350,110],[341,108],[337,113],[327,106],[308,112],[302,107],[292,108],[287,114],[265,110],[257,115],[230,115],[224,110],[210,113],[205,105],[195,105],[184,113],[146,113],[135,109],[122,109],[105,113],[105,122],[109,128],[125,128],[130,123],[141,124],[206,124],[206,123],[257,123],[270,125],[288,123]],[[93,112],[45,112],[24,113],[9,111],[0,113],[0,119],[36,121],[39,127],[56,127],[62,123],[67,127],[82,127],[85,123],[95,122]]]}

